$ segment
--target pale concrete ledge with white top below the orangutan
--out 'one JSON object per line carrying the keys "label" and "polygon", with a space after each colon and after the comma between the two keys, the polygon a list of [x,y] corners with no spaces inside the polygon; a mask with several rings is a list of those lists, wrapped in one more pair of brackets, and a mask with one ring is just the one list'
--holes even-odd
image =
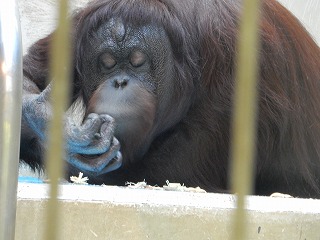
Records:
{"label": "pale concrete ledge with white top below the orangutan", "polygon": [[[43,239],[46,184],[19,183],[16,239]],[[235,198],[62,185],[60,239],[228,239]],[[248,197],[248,239],[320,239],[320,200]]]}

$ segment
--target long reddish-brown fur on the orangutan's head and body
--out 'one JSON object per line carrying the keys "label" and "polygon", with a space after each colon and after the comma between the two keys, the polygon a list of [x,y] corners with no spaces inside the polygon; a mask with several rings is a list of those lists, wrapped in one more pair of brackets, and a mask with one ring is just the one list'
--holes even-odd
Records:
{"label": "long reddish-brown fur on the orangutan's head and body", "polygon": [[[159,133],[141,164],[99,181],[179,181],[209,191],[228,189],[230,118],[241,1],[100,0],[74,16],[74,94],[81,95],[82,48],[88,32],[111,16],[165,29],[175,59],[177,101],[190,105],[170,130]],[[261,9],[259,112],[255,193],[320,196],[320,50],[299,21],[275,0]],[[46,86],[48,42],[24,60],[25,76]],[[184,89],[193,89],[183,98]],[[88,104],[89,99],[84,99]],[[170,123],[170,119],[165,119]],[[22,143],[25,144],[25,143]],[[24,150],[22,158],[39,154]],[[31,155],[30,155],[31,154]],[[36,156],[35,156],[36,155]]]}

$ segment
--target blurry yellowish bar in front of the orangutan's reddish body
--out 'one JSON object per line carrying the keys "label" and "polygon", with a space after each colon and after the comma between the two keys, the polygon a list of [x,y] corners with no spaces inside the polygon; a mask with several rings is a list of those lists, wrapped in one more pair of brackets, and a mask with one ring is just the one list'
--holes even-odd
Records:
{"label": "blurry yellowish bar in front of the orangutan's reddish body", "polygon": [[252,193],[256,140],[260,0],[243,0],[232,122],[231,186],[237,196],[232,239],[247,239],[245,196]]}

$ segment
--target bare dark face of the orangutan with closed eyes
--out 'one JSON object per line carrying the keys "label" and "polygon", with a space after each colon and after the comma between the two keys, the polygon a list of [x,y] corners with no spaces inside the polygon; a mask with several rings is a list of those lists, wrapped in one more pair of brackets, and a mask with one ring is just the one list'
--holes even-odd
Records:
{"label": "bare dark face of the orangutan with closed eyes", "polygon": [[[154,55],[164,63],[160,44],[153,52],[149,44],[164,38],[152,27],[132,29],[111,20],[92,33],[83,61],[87,114],[108,114],[115,119],[115,137],[124,159],[143,154],[154,131],[157,99],[161,98],[155,76]],[[166,39],[164,39],[166,40]],[[98,47],[97,47],[98,46]]]}

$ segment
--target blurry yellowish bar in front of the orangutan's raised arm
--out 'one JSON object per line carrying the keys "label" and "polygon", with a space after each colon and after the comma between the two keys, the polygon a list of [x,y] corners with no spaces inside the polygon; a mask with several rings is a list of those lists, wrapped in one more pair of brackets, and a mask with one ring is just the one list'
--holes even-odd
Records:
{"label": "blurry yellowish bar in front of the orangutan's raised arm", "polygon": [[50,199],[47,209],[47,225],[44,239],[59,239],[58,181],[62,176],[64,155],[63,116],[67,108],[70,88],[70,20],[68,0],[59,1],[58,26],[53,35],[50,59],[52,81],[52,112],[49,124],[47,169],[50,184]]}

